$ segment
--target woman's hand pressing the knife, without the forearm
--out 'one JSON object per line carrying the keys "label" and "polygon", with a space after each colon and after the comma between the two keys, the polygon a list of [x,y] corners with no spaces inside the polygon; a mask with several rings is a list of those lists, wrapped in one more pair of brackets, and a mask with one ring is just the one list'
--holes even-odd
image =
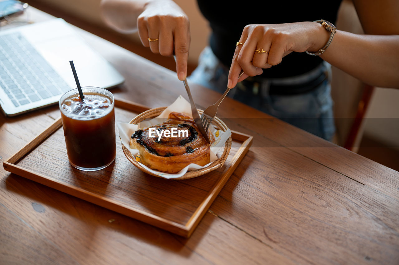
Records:
{"label": "woman's hand pressing the knife, without the forearm", "polygon": [[171,0],[150,1],[137,18],[137,28],[141,42],[153,53],[176,54],[176,72],[184,80],[191,37],[190,23],[183,10]]}

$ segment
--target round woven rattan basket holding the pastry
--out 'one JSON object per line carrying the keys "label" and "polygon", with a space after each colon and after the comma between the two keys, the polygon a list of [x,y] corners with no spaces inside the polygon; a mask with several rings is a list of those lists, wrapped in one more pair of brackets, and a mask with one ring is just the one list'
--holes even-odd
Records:
{"label": "round woven rattan basket holding the pastry", "polygon": [[[160,115],[162,113],[162,111],[164,111],[164,109],[166,109],[166,107],[158,107],[158,108],[154,108],[154,109],[149,109],[148,111],[144,111],[144,112],[140,113],[139,115],[137,115],[136,117],[134,117],[134,119],[132,119],[130,121],[130,123],[137,124],[140,121],[144,121],[145,119],[154,118],[154,117]],[[199,112],[199,115],[201,115],[203,111],[201,109],[198,109],[198,112]],[[213,123],[213,125],[215,125],[217,127],[217,129],[219,129],[221,131],[225,132],[227,130],[227,126],[225,125],[225,123],[223,123],[223,121],[221,121],[221,119],[219,119],[217,117],[215,117],[215,119],[213,119],[212,123]],[[231,136],[229,137],[229,139],[227,139],[223,153],[221,154],[221,156],[217,160],[213,161],[212,164],[210,164],[206,168],[187,171],[187,173],[182,175],[181,177],[177,177],[177,178],[173,178],[173,179],[191,179],[193,177],[198,177],[198,176],[206,174],[212,170],[220,168],[221,166],[223,166],[224,162],[226,161],[227,156],[229,156],[230,148],[231,148]],[[162,176],[152,173],[151,171],[148,171],[146,168],[144,168],[142,166],[141,163],[137,162],[136,159],[134,158],[134,156],[132,155],[132,153],[130,153],[130,150],[128,148],[126,148],[126,146],[124,146],[124,144],[122,144],[122,150],[123,150],[123,153],[125,154],[126,158],[138,169],[140,169],[141,171],[146,172],[150,175],[153,175],[156,177],[162,177]]]}

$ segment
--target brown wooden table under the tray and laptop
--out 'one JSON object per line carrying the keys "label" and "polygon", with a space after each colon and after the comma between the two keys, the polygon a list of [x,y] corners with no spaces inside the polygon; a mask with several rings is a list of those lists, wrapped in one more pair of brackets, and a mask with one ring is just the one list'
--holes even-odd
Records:
{"label": "brown wooden table under the tray and laptop", "polygon": [[[186,97],[174,72],[79,32],[126,78],[116,98],[159,107]],[[199,107],[219,97],[190,86]],[[397,171],[229,98],[218,116],[254,142],[191,238],[1,168],[0,263],[399,264]],[[57,106],[1,115],[1,160],[58,117]]]}

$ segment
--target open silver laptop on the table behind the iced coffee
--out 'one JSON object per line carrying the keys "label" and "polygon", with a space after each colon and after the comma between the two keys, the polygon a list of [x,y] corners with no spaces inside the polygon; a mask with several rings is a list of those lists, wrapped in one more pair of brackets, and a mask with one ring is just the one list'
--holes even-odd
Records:
{"label": "open silver laptop on the table behind the iced coffee", "polygon": [[59,101],[81,86],[113,88],[124,78],[61,18],[0,29],[0,105],[15,116]]}

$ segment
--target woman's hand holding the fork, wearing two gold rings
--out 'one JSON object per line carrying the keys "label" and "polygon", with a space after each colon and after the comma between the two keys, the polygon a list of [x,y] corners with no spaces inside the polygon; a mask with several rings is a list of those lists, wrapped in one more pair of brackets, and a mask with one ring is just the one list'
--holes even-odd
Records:
{"label": "woman's hand holding the fork, wearing two gold rings", "polygon": [[[239,41],[243,45],[235,49],[227,87],[233,88],[248,76],[262,74],[262,69],[279,64],[293,51],[318,51],[328,41],[329,34],[316,22],[245,26]],[[244,74],[237,80],[241,69]]]}

